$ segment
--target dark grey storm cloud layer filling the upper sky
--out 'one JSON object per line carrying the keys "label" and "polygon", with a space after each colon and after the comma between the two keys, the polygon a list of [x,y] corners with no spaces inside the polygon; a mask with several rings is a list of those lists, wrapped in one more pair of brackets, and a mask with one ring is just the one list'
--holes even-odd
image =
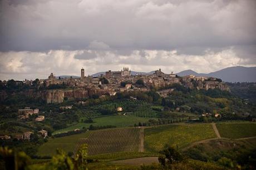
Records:
{"label": "dark grey storm cloud layer filling the upper sky", "polygon": [[[1,51],[255,44],[255,1],[1,1]],[[191,48],[192,49],[192,48]]]}

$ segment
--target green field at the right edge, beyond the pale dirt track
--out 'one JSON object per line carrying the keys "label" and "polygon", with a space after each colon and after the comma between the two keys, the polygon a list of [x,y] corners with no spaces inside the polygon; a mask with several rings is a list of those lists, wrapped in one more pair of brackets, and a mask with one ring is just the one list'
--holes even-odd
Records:
{"label": "green field at the right edge, beyond the pale dirt track", "polygon": [[246,138],[256,136],[256,123],[216,123],[221,137],[224,138]]}

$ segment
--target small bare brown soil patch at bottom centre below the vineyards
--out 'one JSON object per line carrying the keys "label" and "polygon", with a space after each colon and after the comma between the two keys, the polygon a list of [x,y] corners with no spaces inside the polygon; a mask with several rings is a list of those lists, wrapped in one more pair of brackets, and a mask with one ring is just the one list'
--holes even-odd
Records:
{"label": "small bare brown soil patch at bottom centre below the vineyards", "polygon": [[134,159],[124,159],[119,161],[112,161],[116,164],[128,164],[128,165],[141,165],[141,164],[151,164],[158,163],[158,157],[142,157]]}

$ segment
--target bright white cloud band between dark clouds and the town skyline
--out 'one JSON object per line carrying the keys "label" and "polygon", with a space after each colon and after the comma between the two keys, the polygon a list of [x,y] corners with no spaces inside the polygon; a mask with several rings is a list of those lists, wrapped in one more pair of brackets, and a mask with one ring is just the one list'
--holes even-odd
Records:
{"label": "bright white cloud band between dark clouds and the town skyline", "polygon": [[130,55],[120,55],[115,51],[93,51],[91,58],[77,58],[84,52],[92,51],[49,51],[42,52],[1,52],[0,79],[35,79],[55,75],[80,75],[85,68],[86,74],[101,71],[121,70],[129,67],[132,71],[150,72],[161,68],[164,72],[180,72],[193,69],[209,73],[231,66],[256,66],[256,62],[240,58],[233,48],[220,52],[205,51],[203,55],[178,54],[179,51],[145,50],[132,51]]}

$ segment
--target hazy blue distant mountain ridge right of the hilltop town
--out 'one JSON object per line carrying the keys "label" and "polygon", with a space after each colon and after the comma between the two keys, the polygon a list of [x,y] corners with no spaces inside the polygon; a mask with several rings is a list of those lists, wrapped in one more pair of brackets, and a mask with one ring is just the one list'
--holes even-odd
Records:
{"label": "hazy blue distant mountain ridge right of the hilltop town", "polygon": [[256,82],[256,67],[228,67],[208,74],[196,73],[189,69],[177,74],[178,76],[193,74],[194,76],[216,77],[222,79],[224,82]]}

